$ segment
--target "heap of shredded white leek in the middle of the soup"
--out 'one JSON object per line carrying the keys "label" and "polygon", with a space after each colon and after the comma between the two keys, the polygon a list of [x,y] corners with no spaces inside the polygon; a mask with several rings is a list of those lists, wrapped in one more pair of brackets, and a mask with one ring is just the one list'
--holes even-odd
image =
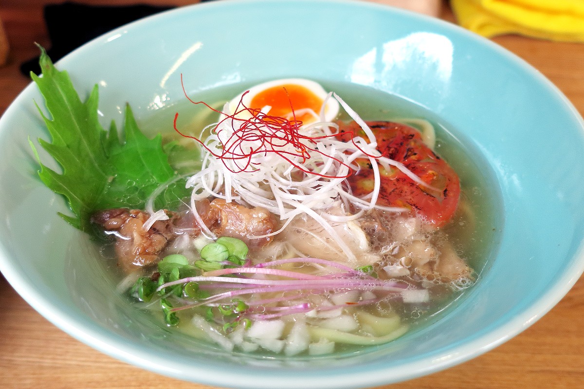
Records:
{"label": "heap of shredded white leek in the middle of the soup", "polygon": [[[349,259],[354,259],[354,254],[332,228],[331,222],[353,220],[357,216],[329,213],[328,210],[335,201],[342,199],[347,203],[356,204],[360,209],[404,211],[402,208],[377,205],[381,187],[379,164],[384,167],[389,165],[397,167],[416,183],[426,184],[403,164],[381,157],[381,153],[376,149],[375,135],[366,122],[337,94],[329,94],[326,99],[331,99],[332,96],[360,125],[369,139],[354,136],[354,142],[342,142],[331,136],[338,133],[338,125],[324,122],[323,105],[319,113],[321,122],[300,129],[303,135],[319,138],[316,143],[304,141],[305,145],[312,149],[308,151],[307,158],[298,156],[298,150],[291,143],[282,141],[281,144],[275,146],[272,144],[291,160],[292,163],[290,163],[274,152],[249,152],[249,150],[257,150],[262,144],[257,139],[248,140],[238,137],[239,128],[235,127],[242,124],[240,121],[227,119],[215,125],[211,130],[211,135],[204,141],[201,171],[187,180],[187,188],[193,190],[191,208],[196,215],[197,223],[207,237],[214,235],[204,226],[200,217],[197,217],[199,215],[194,204],[208,197],[223,198],[227,202],[235,201],[246,206],[266,208],[267,211],[278,215],[284,226],[298,215],[308,215],[322,225]],[[263,108],[265,109],[269,107]],[[223,112],[227,115],[233,114],[228,104],[225,104]],[[265,122],[258,120],[253,124],[262,131],[273,132],[265,125]],[[230,148],[236,148],[244,155],[249,152],[249,156],[241,159],[215,157],[215,155],[222,155],[224,150]],[[369,159],[373,166],[375,183],[368,201],[355,197],[350,192],[349,185],[345,183],[345,177],[349,175],[351,168],[356,167],[353,162],[358,158]],[[307,174],[302,170],[314,174]],[[359,211],[358,214],[362,212]],[[272,236],[282,229],[256,238]]]}

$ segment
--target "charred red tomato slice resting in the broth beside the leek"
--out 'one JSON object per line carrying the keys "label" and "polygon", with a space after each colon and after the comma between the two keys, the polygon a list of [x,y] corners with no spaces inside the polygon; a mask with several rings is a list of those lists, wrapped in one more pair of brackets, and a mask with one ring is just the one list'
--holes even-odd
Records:
{"label": "charred red tomato slice resting in the broth beside the leek", "polygon": [[[378,204],[412,209],[436,227],[450,222],[460,197],[460,180],[456,172],[426,146],[417,129],[388,121],[370,121],[367,125],[377,138],[377,149],[384,156],[403,163],[432,187],[415,183],[397,168],[391,171],[382,168]],[[350,141],[351,134],[367,139],[356,122],[340,124],[340,132],[343,141]],[[369,159],[356,162],[360,169],[347,180],[353,194],[361,197],[373,190],[373,169]]]}

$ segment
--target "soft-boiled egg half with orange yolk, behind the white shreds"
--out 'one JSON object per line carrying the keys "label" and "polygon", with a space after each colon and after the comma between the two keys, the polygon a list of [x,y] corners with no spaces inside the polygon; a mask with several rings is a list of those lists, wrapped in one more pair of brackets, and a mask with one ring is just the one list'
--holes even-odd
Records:
{"label": "soft-boiled egg half with orange yolk, behind the white shreds", "polygon": [[327,99],[328,92],[312,80],[272,80],[252,86],[248,90],[248,93],[240,93],[229,102],[230,113],[239,112],[238,118],[251,117],[242,105],[262,110],[267,115],[300,120],[303,127],[319,121],[332,121],[339,113],[338,101],[333,97]]}

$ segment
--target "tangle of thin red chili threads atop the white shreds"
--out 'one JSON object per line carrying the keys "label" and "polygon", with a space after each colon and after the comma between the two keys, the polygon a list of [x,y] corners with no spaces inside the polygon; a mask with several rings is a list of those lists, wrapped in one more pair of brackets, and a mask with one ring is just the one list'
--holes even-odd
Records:
{"label": "tangle of thin red chili threads atop the white shreds", "polygon": [[[296,120],[296,113],[294,113],[294,108],[292,107],[292,103],[290,101],[290,108],[293,114],[293,120],[288,120],[283,117],[267,115],[262,113],[261,110],[258,108],[249,108],[246,107],[243,103],[244,96],[249,93],[249,90],[242,94],[241,99],[237,107],[235,108],[235,113],[232,115],[227,115],[215,108],[209,106],[204,101],[194,101],[190,99],[188,94],[186,93],[185,84],[183,83],[183,75],[180,75],[180,84],[183,89],[183,93],[185,94],[186,98],[193,104],[203,104],[210,110],[213,110],[219,114],[223,114],[224,118],[215,125],[213,131],[215,134],[219,135],[222,130],[217,130],[217,128],[223,124],[224,121],[231,121],[231,127],[234,129],[234,133],[227,139],[226,142],[221,141],[222,152],[220,154],[214,153],[213,150],[209,149],[207,145],[204,144],[199,138],[195,136],[185,135],[179,131],[176,126],[176,122],[178,120],[179,114],[175,114],[175,118],[173,121],[173,127],[176,132],[180,135],[185,136],[185,138],[191,138],[195,141],[199,142],[201,146],[203,146],[211,155],[215,158],[221,159],[221,162],[230,170],[232,173],[239,173],[239,172],[247,172],[251,173],[255,170],[258,170],[257,167],[253,166],[252,164],[252,157],[254,155],[263,154],[267,155],[267,153],[275,153],[276,155],[280,156],[282,159],[286,160],[288,163],[292,164],[298,170],[303,171],[307,174],[314,174],[315,176],[324,177],[324,178],[346,178],[349,177],[354,169],[349,166],[349,164],[342,162],[341,160],[326,155],[321,151],[311,148],[307,146],[306,143],[303,141],[308,141],[309,144],[316,145],[317,141],[326,138],[336,138],[339,134],[333,135],[323,135],[323,136],[307,136],[300,134],[300,127],[302,126],[302,121]],[[285,89],[284,89],[285,90]],[[237,116],[241,113],[249,113],[251,118],[249,119],[241,119]],[[369,155],[364,150],[362,150],[359,145],[354,142],[354,134],[353,131],[344,132],[343,135],[350,134],[351,140],[353,145],[359,149],[364,155],[369,157],[376,157]],[[248,150],[244,150],[244,143],[245,142],[259,142],[256,148],[249,147]],[[283,148],[287,145],[293,146],[296,152],[286,151]],[[310,151],[309,151],[310,150]],[[293,162],[293,157],[300,157],[302,159],[302,163],[304,164],[308,159],[310,159],[310,152],[319,153],[322,156],[328,157],[335,162],[338,162],[341,166],[346,166],[349,168],[349,173],[342,175],[342,176],[332,176],[327,174],[318,173],[317,171],[307,170],[304,167],[301,167],[297,163]],[[226,161],[231,160],[235,163],[238,169],[232,169],[230,166],[227,166]],[[240,163],[241,161],[241,163]],[[322,165],[322,163],[320,163]]]}

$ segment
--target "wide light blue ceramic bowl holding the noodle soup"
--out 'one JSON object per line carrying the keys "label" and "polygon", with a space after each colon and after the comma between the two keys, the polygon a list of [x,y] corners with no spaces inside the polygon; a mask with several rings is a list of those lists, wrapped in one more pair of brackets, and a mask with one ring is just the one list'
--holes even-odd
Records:
{"label": "wide light blue ceramic bowl holding the noodle soup", "polygon": [[[75,338],[179,379],[241,388],[355,388],[411,379],[492,349],[543,316],[582,274],[584,125],[540,73],[439,20],[363,2],[225,1],[114,30],[58,62],[82,93],[100,85],[104,125],[128,101],[138,122],[223,86],[304,77],[354,83],[439,118],[484,163],[502,215],[490,268],[442,320],[355,355],[232,356],[131,309],[61,197],[36,177],[28,137],[47,138],[30,85],[0,121],[0,268]],[[237,87],[235,88],[237,89]],[[170,129],[170,127],[169,127]]]}

